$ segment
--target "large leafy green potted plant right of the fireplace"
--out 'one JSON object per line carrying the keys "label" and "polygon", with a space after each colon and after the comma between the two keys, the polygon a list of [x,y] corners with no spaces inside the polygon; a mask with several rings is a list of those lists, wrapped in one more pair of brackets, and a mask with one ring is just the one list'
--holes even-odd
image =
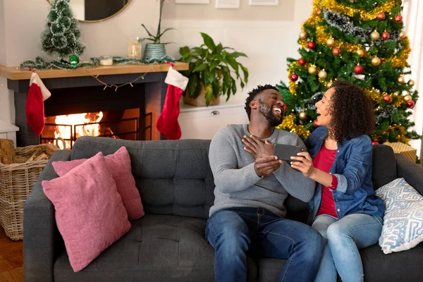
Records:
{"label": "large leafy green potted plant right of the fireplace", "polygon": [[[247,57],[244,53],[230,47],[215,44],[212,37],[201,32],[204,43],[200,47],[181,47],[179,61],[190,64],[185,73],[190,79],[184,92],[183,102],[194,106],[219,104],[219,96],[226,95],[226,101],[235,95],[237,81],[241,88],[248,82],[248,69],[237,61],[239,57]],[[232,50],[232,51],[229,51]],[[243,76],[241,76],[241,74]],[[199,103],[204,95],[204,104]]]}

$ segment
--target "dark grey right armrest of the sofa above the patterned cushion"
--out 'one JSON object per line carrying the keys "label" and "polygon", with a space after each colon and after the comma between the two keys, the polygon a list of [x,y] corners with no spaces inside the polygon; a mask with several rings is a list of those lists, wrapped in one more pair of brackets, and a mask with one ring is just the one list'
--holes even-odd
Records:
{"label": "dark grey right armrest of the sofa above the patterned cushion", "polygon": [[407,183],[423,195],[423,167],[410,161],[402,154],[395,154],[397,175],[403,177]]}

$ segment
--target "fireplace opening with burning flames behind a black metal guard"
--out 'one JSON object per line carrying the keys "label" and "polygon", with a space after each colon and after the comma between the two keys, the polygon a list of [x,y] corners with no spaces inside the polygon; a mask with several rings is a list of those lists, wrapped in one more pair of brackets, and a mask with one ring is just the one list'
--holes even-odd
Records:
{"label": "fireplace opening with burning flames behind a black metal guard", "polygon": [[91,113],[47,116],[40,143],[53,143],[61,149],[72,149],[81,136],[111,137],[115,139],[152,140],[152,113],[141,117],[140,109],[97,111]]}

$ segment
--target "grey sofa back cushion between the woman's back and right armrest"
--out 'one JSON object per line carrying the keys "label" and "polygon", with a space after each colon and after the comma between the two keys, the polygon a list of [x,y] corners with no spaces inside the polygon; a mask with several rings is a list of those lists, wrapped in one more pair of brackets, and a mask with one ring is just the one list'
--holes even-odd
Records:
{"label": "grey sofa back cushion between the woman's back and right armrest", "polygon": [[372,181],[374,190],[396,178],[393,149],[387,145],[373,145]]}

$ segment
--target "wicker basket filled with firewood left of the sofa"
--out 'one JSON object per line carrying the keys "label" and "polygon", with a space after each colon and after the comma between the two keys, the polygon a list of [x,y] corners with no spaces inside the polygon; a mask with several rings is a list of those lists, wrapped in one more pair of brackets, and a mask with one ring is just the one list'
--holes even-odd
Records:
{"label": "wicker basket filled with firewood left of the sofa", "polygon": [[[47,145],[42,144],[18,147],[16,156],[29,158],[37,151],[51,155]],[[12,240],[23,239],[23,206],[48,161],[43,159],[23,164],[0,163],[0,223]]]}

